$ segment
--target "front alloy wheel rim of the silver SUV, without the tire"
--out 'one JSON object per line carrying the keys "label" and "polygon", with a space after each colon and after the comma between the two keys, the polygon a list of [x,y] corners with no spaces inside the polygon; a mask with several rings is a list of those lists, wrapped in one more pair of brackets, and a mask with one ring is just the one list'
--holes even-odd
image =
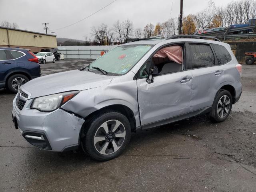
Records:
{"label": "front alloy wheel rim of the silver SUV, without the tire", "polygon": [[103,155],[109,155],[119,150],[125,139],[124,125],[118,120],[104,122],[94,135],[94,146]]}

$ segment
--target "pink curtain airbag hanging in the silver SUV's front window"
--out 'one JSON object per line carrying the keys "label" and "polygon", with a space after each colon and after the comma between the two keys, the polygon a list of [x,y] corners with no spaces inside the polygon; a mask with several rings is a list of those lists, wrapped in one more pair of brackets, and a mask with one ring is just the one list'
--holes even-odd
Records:
{"label": "pink curtain airbag hanging in the silver SUV's front window", "polygon": [[[153,58],[156,65],[161,63],[161,60],[164,60],[164,58],[168,58],[171,61],[174,61],[178,64],[182,64],[182,47],[179,45],[175,45],[162,48],[158,52],[156,52],[156,54],[154,54]],[[158,61],[156,58],[158,58]]]}

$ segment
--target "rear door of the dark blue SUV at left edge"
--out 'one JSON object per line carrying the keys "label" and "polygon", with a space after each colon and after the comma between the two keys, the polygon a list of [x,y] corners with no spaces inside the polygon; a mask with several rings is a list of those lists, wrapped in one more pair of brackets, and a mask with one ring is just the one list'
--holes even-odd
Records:
{"label": "rear door of the dark blue SUV at left edge", "polygon": [[0,50],[0,83],[4,82],[6,75],[15,68],[15,62],[7,51]]}

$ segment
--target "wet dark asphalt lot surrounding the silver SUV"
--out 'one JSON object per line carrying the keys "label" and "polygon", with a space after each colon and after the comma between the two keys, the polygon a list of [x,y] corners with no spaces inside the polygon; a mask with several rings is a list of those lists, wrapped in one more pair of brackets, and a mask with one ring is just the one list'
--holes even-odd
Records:
{"label": "wet dark asphalt lot surrounding the silver SUV", "polygon": [[[90,60],[41,64],[42,74]],[[243,65],[243,93],[222,123],[205,115],[132,135],[118,158],[96,162],[82,152],[28,144],[11,117],[14,94],[0,90],[0,191],[256,191],[256,65]]]}

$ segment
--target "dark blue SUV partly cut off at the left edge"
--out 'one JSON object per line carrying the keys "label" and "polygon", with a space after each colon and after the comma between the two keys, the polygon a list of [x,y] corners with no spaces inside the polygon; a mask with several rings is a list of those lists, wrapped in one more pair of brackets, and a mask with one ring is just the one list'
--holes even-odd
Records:
{"label": "dark blue SUV partly cut off at the left edge", "polygon": [[41,76],[38,58],[29,51],[0,47],[0,88],[17,93],[20,86]]}

